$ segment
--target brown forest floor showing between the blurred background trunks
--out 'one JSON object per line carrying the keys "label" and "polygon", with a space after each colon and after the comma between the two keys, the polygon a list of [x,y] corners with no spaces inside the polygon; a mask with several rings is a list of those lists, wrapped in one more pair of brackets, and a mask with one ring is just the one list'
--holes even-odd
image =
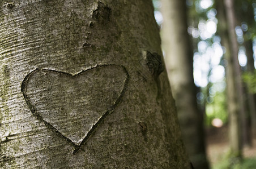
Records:
{"label": "brown forest floor showing between the blurred background trunks", "polygon": [[[211,166],[223,161],[229,151],[228,127],[208,128],[206,131],[206,147]],[[244,148],[243,151],[245,158],[256,157],[256,137],[253,139],[253,146]]]}

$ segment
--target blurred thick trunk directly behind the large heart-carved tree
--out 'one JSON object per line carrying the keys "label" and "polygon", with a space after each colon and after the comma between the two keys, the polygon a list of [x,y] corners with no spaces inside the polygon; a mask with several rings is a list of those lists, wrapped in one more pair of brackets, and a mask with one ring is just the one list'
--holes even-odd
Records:
{"label": "blurred thick trunk directly behind the large heart-carved tree", "polygon": [[[187,34],[185,1],[162,0],[163,48],[173,96],[176,99],[182,137],[195,168],[208,168],[203,113],[197,106],[193,79],[193,52]],[[177,17],[178,16],[178,17]]]}

